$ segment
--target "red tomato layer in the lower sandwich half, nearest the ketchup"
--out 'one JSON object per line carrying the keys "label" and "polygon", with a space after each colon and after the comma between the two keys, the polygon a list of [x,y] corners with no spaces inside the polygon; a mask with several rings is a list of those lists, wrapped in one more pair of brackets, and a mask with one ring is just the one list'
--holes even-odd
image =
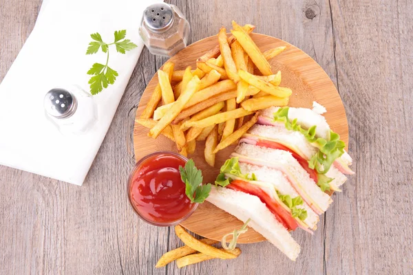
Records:
{"label": "red tomato layer in the lower sandwich half, nearest the ketchup", "polygon": [[297,221],[291,216],[290,212],[284,209],[277,201],[271,199],[271,197],[264,192],[260,187],[250,184],[247,181],[235,179],[231,181],[231,184],[226,186],[237,191],[242,191],[250,195],[257,196],[261,199],[266,207],[275,215],[277,221],[279,221],[288,230],[296,230],[298,227]]}

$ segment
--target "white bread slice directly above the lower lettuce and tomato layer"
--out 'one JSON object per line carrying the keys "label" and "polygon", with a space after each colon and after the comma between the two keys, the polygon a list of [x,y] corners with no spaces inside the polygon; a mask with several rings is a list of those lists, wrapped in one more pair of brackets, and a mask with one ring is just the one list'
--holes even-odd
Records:
{"label": "white bread slice directly above the lower lettuce and tomato layer", "polygon": [[[273,184],[275,190],[282,195],[290,195],[291,198],[299,196],[297,191],[295,191],[293,186],[291,186],[290,181],[288,181],[286,176],[279,170],[242,162],[240,163],[240,169],[242,174],[251,175],[254,173],[257,180]],[[304,220],[304,223],[306,223],[311,229],[316,230],[317,222],[319,221],[318,215],[315,214],[306,202],[304,202],[301,206],[297,206],[297,208],[304,208],[307,211],[307,218]]]}

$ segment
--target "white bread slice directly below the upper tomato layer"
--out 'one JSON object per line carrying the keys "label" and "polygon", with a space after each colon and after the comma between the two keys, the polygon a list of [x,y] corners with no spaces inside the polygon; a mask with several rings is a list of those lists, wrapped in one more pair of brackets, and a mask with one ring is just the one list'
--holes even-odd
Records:
{"label": "white bread slice directly below the upper tomato layer", "polygon": [[242,143],[235,148],[235,153],[231,157],[239,157],[240,162],[268,166],[282,171],[299,195],[317,214],[325,212],[332,203],[330,196],[321,191],[306,170],[287,151]]}

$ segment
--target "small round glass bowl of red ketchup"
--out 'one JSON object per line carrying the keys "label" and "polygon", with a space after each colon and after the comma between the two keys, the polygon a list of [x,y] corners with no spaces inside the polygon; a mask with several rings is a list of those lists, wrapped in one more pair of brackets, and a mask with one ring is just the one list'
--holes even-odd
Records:
{"label": "small round glass bowl of red ketchup", "polygon": [[179,166],[185,160],[173,153],[159,153],[145,159],[131,175],[129,200],[140,216],[152,223],[173,223],[195,207],[187,195]]}

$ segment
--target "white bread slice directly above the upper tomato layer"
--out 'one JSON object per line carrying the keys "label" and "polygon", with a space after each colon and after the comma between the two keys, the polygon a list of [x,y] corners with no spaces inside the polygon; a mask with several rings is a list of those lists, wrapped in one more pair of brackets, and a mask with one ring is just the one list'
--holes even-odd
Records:
{"label": "white bread slice directly above the upper tomato layer", "polygon": [[[310,159],[318,151],[313,145],[306,140],[304,135],[298,133],[297,131],[287,130],[284,126],[269,126],[269,125],[259,125],[255,124],[248,130],[243,137],[245,138],[260,138],[264,137],[268,140],[273,140],[288,148],[291,148],[301,157],[305,159]],[[348,155],[348,154],[347,154]],[[347,177],[341,173],[335,166],[331,166],[326,173],[327,177],[332,178],[331,184],[333,186],[341,186],[346,182]]]}

